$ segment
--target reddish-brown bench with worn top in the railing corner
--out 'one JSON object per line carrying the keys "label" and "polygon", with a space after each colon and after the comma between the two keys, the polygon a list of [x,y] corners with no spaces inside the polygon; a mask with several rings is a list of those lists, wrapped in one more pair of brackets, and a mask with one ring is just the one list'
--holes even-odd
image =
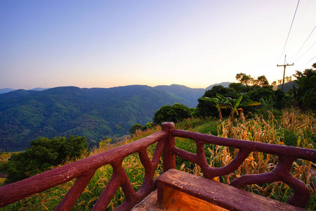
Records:
{"label": "reddish-brown bench with worn top in the railing corner", "polygon": [[160,207],[168,207],[178,191],[228,210],[305,210],[175,169],[167,170],[157,178],[158,205]]}

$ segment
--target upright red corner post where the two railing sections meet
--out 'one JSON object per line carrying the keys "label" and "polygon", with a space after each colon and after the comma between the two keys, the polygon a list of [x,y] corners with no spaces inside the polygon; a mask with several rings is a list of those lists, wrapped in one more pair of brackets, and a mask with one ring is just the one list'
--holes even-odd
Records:
{"label": "upright red corner post where the two railing sections meet", "polygon": [[173,122],[164,122],[162,123],[162,131],[168,132],[168,136],[164,141],[164,150],[162,151],[162,160],[163,160],[163,170],[175,169],[176,168],[176,156],[173,155],[171,149],[175,146],[175,138],[172,134],[174,129]]}

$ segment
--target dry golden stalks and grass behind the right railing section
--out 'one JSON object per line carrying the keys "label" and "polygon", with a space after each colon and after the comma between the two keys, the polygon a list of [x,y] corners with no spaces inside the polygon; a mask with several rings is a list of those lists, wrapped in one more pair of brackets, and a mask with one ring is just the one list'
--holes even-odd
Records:
{"label": "dry golden stalks and grass behind the right railing section", "polygon": [[[232,124],[229,120],[221,123],[221,132],[223,137],[232,139],[243,139],[249,141],[258,141],[263,143],[272,143],[284,145],[280,137],[282,129],[294,129],[298,137],[298,144],[304,148],[312,148],[312,143],[308,143],[308,132],[315,137],[316,120],[310,113],[299,113],[298,110],[284,110],[281,121],[277,122],[275,117],[270,113],[269,120],[262,117],[254,117],[251,120],[239,121]],[[314,139],[315,140],[315,139]],[[216,146],[216,152],[211,153],[210,165],[220,161],[221,166],[227,165],[238,150],[230,149],[224,146]],[[232,174],[221,177],[221,181],[229,184],[233,179],[244,174],[260,174],[270,172],[277,165],[278,158],[276,155],[266,153],[252,152],[243,164]],[[292,167],[294,177],[301,179],[310,188],[311,193],[315,197],[315,172],[313,164],[306,160],[296,160]],[[282,182],[266,184],[262,186],[249,185],[245,188],[248,191],[258,193],[263,196],[269,196],[277,200],[286,202],[287,193],[291,192],[291,188]],[[288,194],[289,195],[289,194]],[[290,195],[289,195],[290,196]]]}

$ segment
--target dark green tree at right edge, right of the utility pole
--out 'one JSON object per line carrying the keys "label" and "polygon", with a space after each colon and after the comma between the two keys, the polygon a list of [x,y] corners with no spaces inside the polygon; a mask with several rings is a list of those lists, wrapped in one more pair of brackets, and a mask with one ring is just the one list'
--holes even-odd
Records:
{"label": "dark green tree at right edge, right of the utility pole", "polygon": [[[316,68],[316,63],[312,64]],[[316,70],[305,69],[304,72],[296,70],[297,89],[294,88],[294,98],[298,101],[300,108],[316,110]]]}

